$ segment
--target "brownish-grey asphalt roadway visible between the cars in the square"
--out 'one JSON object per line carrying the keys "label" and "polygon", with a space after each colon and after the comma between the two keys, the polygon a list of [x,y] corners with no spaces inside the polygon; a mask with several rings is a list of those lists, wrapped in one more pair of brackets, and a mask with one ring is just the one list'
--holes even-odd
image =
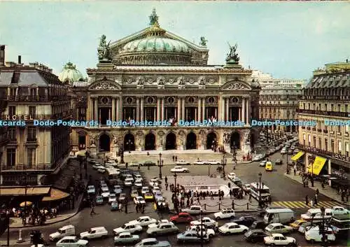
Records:
{"label": "brownish-grey asphalt roadway visible between the cars in the square", "polygon": [[[185,158],[185,156],[188,158],[188,154],[178,155],[179,158]],[[197,157],[197,155],[195,155]],[[220,160],[220,157],[222,155],[213,154],[212,158],[216,160]],[[133,157],[135,158],[135,157]],[[193,157],[194,158],[194,157]],[[279,153],[276,153],[270,157],[270,159],[275,160],[277,158],[281,158],[281,155]],[[286,157],[284,157],[285,159]],[[127,158],[125,159],[127,162]],[[141,161],[141,160],[140,160]],[[284,161],[284,160],[283,160]],[[154,160],[156,162],[156,160]],[[284,162],[281,166],[274,167],[274,171],[272,172],[265,172],[265,169],[263,167],[258,166],[259,162],[252,162],[251,164],[238,164],[235,170],[232,170],[232,165],[228,164],[227,167],[225,167],[225,172],[228,174],[230,171],[234,171],[239,178],[241,178],[243,183],[253,183],[255,181],[258,181],[258,173],[262,173],[262,182],[265,183],[265,185],[269,186],[271,194],[272,194],[272,202],[304,202],[305,195],[309,195],[309,197],[314,196],[314,190],[311,190],[310,188],[303,188],[300,183],[297,183],[295,181],[290,180],[289,178],[286,178],[283,176],[283,173],[286,171],[286,162]],[[165,178],[165,176],[172,176],[173,174],[170,172],[170,169],[174,167],[174,165],[167,165],[162,167],[162,176]],[[210,174],[218,174],[218,171],[216,171],[216,166],[207,167],[206,165],[190,165],[186,166],[190,168],[190,174],[178,174],[179,176],[191,176],[191,175],[207,175],[208,170]],[[131,167],[131,169],[137,170],[137,167]],[[145,178],[149,180],[150,178],[157,177],[159,174],[159,167],[150,167],[148,170],[147,167],[141,167],[141,174],[144,174]],[[101,174],[98,174],[97,171],[94,171],[92,169],[92,166],[88,165],[88,174],[92,175],[92,181],[95,181],[95,183],[98,183],[99,179],[101,178]],[[168,183],[173,183],[172,181],[168,181]],[[320,202],[330,202],[331,199],[324,197],[320,195],[318,197]],[[169,201],[169,199],[168,199]],[[239,200],[236,200],[237,203],[239,203]],[[170,202],[171,203],[171,202]],[[298,208],[293,209],[297,215],[300,215],[300,213],[304,213],[307,211],[307,208]],[[116,227],[120,227],[124,223],[127,223],[130,220],[134,220],[141,216],[141,213],[136,213],[134,209],[134,202],[130,202],[128,206],[128,213],[124,212],[116,212],[116,211],[110,211],[109,205],[104,206],[97,206],[96,209],[96,215],[90,216],[90,209],[85,208],[80,213],[78,213],[73,218],[66,220],[66,222],[62,223],[56,223],[53,225],[47,225],[43,227],[35,227],[35,229],[41,230],[43,233],[45,239],[47,239],[48,234],[55,232],[57,228],[62,227],[63,225],[75,225],[76,227],[76,234],[88,230],[90,227],[97,227],[97,226],[104,226],[107,230],[109,230],[111,237],[108,239],[101,239],[96,241],[91,241],[92,246],[113,246],[113,239],[112,239],[112,230]],[[145,215],[151,216],[151,218],[159,219],[159,218],[168,218],[169,216],[158,216],[158,214],[154,211],[153,205],[148,203],[145,210]],[[236,217],[242,216],[242,215],[248,215],[248,213],[237,213]],[[250,213],[249,215],[254,216],[258,218],[257,213]],[[210,215],[209,215],[210,217]],[[198,217],[197,217],[198,218]],[[222,220],[219,225],[222,225],[223,223],[228,222],[227,220]],[[185,230],[185,225],[180,227],[181,230]],[[29,232],[33,228],[26,228],[22,231],[23,237],[25,239],[29,239]],[[289,236],[289,235],[288,235]],[[297,243],[305,246],[307,243],[304,241],[304,236],[301,234],[290,234],[291,237],[295,237],[297,240]],[[140,237],[146,237],[146,234],[141,234]],[[15,240],[18,239],[18,229],[10,230],[10,238],[11,238],[11,246],[23,246],[22,244],[15,244]],[[158,237],[158,239],[161,240],[168,240],[170,241],[173,246],[185,246],[181,244],[176,244],[176,236],[171,235],[169,237]],[[1,237],[1,241],[6,240],[6,234],[3,234]],[[52,243],[53,244],[53,243]],[[337,244],[346,246],[346,241],[338,241]],[[310,244],[307,244],[310,246]],[[54,244],[52,245],[54,246]],[[186,244],[188,246],[188,244]],[[209,244],[205,244],[204,246],[261,246],[261,244],[248,244],[246,241],[244,241],[244,237],[242,234],[239,234],[237,236],[232,237],[226,237],[226,236],[216,236]],[[319,246],[319,244],[315,244],[315,246]]]}

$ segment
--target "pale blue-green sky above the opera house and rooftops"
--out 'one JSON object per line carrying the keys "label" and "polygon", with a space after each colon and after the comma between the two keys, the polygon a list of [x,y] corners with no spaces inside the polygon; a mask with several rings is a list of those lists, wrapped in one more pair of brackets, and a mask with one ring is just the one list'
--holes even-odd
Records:
{"label": "pale blue-green sky above the opera house and rooftops", "polygon": [[153,8],[162,28],[195,43],[205,36],[209,64],[225,63],[228,42],[244,66],[275,78],[310,78],[350,57],[350,4],[320,1],[0,2],[0,44],[6,61],[22,55],[55,73],[71,61],[85,73],[97,64],[102,34],[117,41],[148,27]]}

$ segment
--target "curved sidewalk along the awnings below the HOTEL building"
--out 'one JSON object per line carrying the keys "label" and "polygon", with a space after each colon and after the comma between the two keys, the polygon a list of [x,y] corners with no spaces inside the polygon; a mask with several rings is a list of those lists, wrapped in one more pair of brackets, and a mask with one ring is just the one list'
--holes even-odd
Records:
{"label": "curved sidewalk along the awnings below the HOTEL building", "polygon": [[[84,185],[87,186],[87,179],[84,179]],[[45,221],[44,225],[50,225],[54,223],[59,223],[64,220],[68,220],[69,218],[72,218],[75,216],[80,209],[81,201],[83,200],[84,193],[81,193],[78,198],[74,202],[74,209],[70,209],[67,211],[64,211],[63,213],[59,213],[56,218],[49,218]],[[23,228],[23,227],[37,227],[38,225],[23,225],[22,224],[22,218],[10,218],[10,228]]]}

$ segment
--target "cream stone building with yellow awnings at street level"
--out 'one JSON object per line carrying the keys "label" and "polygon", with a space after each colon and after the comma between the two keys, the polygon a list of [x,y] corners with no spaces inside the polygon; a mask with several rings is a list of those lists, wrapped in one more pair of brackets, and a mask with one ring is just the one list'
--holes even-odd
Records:
{"label": "cream stone building with yellow awnings at street level", "polygon": [[[316,126],[299,127],[299,148],[305,170],[349,178],[350,174],[350,62],[326,64],[314,71],[299,102],[299,120],[314,120]],[[313,171],[315,159],[318,170]]]}

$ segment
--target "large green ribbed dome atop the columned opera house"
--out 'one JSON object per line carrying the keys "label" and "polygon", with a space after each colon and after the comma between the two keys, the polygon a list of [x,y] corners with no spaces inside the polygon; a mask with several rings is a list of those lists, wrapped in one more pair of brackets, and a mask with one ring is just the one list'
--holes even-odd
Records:
{"label": "large green ribbed dome atop the columned opera house", "polygon": [[188,45],[181,41],[162,36],[148,36],[124,45],[121,52],[190,52]]}

